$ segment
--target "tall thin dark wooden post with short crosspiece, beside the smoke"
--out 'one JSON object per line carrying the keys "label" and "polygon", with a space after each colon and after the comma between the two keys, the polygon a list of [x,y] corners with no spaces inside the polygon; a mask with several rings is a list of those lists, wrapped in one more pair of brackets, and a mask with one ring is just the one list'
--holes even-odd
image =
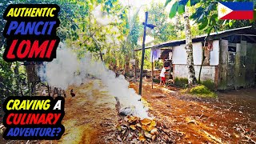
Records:
{"label": "tall thin dark wooden post with short crosspiece, beside the smoke", "polygon": [[144,58],[145,58],[145,40],[146,40],[146,25],[147,25],[147,15],[148,12],[145,13],[145,23],[144,23],[144,34],[143,34],[143,42],[142,42],[142,65],[141,65],[141,74],[139,77],[139,88],[138,94],[142,95],[142,77],[143,77],[143,66],[144,66]]}

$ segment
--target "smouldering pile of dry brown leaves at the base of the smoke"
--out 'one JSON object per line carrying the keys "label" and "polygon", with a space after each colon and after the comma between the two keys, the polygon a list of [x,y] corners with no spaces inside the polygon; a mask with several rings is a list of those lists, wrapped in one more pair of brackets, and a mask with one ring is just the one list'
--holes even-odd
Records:
{"label": "smouldering pile of dry brown leaves at the base of the smoke", "polygon": [[174,132],[155,119],[127,116],[119,122],[117,129],[117,138],[120,142],[174,143],[175,141]]}

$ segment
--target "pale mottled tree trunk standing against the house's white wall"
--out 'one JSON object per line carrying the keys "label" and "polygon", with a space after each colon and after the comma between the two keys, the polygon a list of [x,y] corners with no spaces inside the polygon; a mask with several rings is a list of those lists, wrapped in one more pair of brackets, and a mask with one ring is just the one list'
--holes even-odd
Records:
{"label": "pale mottled tree trunk standing against the house's white wall", "polygon": [[190,30],[190,20],[189,20],[189,11],[188,8],[185,8],[185,14],[184,14],[184,20],[185,20],[185,34],[186,34],[186,65],[188,67],[188,82],[189,85],[195,85],[197,84],[197,78],[195,78],[195,72],[194,72],[194,60],[193,60],[193,45],[192,45],[192,37],[191,37],[191,30]]}

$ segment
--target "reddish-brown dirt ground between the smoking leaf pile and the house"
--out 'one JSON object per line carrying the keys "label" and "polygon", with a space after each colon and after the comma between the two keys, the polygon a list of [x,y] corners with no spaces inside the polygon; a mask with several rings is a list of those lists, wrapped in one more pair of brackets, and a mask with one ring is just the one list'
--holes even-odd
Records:
{"label": "reddish-brown dirt ground between the smoking leaf pile and the house", "polygon": [[[138,90],[138,83],[130,87]],[[256,96],[234,94],[218,94],[218,100],[200,101],[158,85],[152,90],[147,82],[142,89],[142,97],[152,107],[150,114],[183,135],[178,143],[253,143]],[[250,94],[256,93],[250,91]]]}

